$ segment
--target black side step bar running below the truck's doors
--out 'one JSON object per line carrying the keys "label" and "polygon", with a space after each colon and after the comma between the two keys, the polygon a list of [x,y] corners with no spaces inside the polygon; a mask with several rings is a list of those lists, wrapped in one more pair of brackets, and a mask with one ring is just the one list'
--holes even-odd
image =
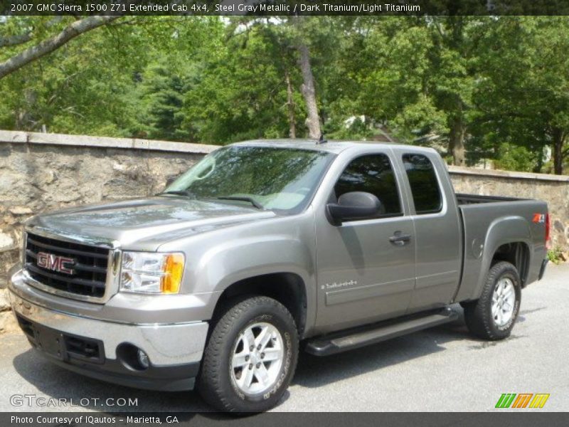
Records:
{"label": "black side step bar running below the truck's doors", "polygon": [[407,317],[399,321],[388,321],[366,325],[345,332],[317,337],[307,342],[306,352],[314,356],[329,356],[347,350],[357,349],[369,344],[376,344],[387,339],[400,337],[420,330],[452,322],[458,313],[450,308],[439,310],[422,317]]}

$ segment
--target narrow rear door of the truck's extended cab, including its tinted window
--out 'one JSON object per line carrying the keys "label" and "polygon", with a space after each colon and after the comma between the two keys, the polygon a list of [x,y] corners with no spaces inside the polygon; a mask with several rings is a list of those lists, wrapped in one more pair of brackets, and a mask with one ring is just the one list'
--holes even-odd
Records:
{"label": "narrow rear door of the truck's extended cab, including its tinted window", "polygon": [[395,153],[415,228],[416,283],[408,312],[441,307],[451,302],[460,280],[462,231],[454,190],[435,152],[397,148]]}

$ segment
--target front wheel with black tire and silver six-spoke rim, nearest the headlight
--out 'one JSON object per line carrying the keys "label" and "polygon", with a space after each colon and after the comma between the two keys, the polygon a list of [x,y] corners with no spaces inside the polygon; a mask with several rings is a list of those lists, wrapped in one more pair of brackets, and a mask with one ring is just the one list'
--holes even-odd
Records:
{"label": "front wheel with black tire and silver six-spoke rim, nearest the headlight", "polygon": [[267,411],[280,401],[297,367],[292,315],[277,300],[255,296],[233,302],[218,319],[203,353],[198,391],[220,411]]}

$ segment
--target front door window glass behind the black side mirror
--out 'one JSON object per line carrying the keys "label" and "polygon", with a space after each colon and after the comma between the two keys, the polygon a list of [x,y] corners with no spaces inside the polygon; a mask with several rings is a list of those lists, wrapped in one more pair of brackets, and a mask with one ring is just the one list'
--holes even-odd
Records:
{"label": "front door window glass behind the black side mirror", "polygon": [[382,216],[403,214],[395,174],[385,154],[368,154],[353,159],[334,186],[336,198],[350,191],[374,194],[385,209]]}

